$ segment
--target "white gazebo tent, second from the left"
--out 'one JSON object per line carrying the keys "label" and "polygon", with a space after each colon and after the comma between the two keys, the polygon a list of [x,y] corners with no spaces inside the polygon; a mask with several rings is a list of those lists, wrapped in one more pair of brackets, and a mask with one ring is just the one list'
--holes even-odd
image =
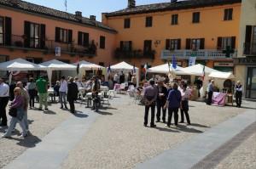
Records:
{"label": "white gazebo tent, second from the left", "polygon": [[40,66],[46,67],[48,78],[49,78],[49,83],[51,83],[51,76],[52,76],[53,70],[76,70],[76,68],[77,68],[74,65],[66,64],[57,59],[52,59],[52,60],[46,61],[46,62],[40,64]]}

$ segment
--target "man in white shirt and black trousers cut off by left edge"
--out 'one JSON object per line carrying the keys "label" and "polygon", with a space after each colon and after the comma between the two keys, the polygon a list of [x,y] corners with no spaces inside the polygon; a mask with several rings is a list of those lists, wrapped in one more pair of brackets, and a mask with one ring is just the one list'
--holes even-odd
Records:
{"label": "man in white shirt and black trousers cut off by left edge", "polygon": [[0,120],[1,127],[7,126],[6,106],[9,102],[9,86],[0,77]]}

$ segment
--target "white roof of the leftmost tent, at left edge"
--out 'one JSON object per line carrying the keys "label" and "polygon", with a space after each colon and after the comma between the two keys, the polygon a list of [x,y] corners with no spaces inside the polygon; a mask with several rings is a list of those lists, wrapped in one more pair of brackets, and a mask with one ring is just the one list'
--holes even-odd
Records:
{"label": "white roof of the leftmost tent, at left edge", "polygon": [[26,59],[13,59],[0,64],[0,70],[45,70],[42,65],[37,65]]}

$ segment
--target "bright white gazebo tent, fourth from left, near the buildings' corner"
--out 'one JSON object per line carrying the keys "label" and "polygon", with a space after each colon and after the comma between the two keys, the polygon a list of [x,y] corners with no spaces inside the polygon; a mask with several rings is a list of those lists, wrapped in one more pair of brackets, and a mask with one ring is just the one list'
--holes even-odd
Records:
{"label": "bright white gazebo tent, fourth from left, near the buildings' corner", "polygon": [[[115,70],[115,71],[121,71],[121,70],[131,71],[131,70],[133,70],[133,65],[129,65],[123,61],[123,62],[120,62],[119,64],[111,65],[110,69]],[[136,79],[137,79],[137,87],[138,87],[138,84],[139,84],[139,72],[138,71],[139,70],[137,67],[135,67],[135,70],[136,70]]]}

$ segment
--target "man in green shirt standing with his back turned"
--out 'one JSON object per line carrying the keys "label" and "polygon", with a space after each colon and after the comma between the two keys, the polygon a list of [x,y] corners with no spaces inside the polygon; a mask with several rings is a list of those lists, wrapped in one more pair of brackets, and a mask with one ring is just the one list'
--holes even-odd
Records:
{"label": "man in green shirt standing with his back turned", "polygon": [[39,110],[42,110],[43,103],[45,110],[48,110],[47,103],[47,82],[44,80],[44,76],[40,76],[38,81],[36,82],[38,93],[39,93]]}

